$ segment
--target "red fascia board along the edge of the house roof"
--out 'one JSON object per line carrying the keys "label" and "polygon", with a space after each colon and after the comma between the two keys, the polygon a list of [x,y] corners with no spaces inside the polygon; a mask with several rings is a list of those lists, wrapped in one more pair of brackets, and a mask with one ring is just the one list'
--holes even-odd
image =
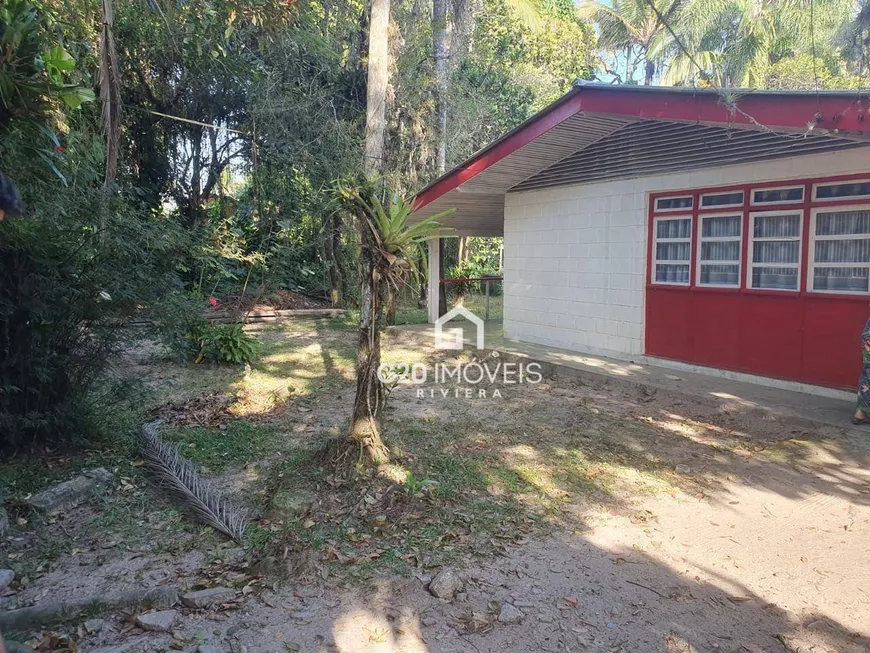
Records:
{"label": "red fascia board along the edge of the house roof", "polygon": [[[721,124],[782,131],[870,133],[870,99],[857,92],[728,91],[578,84],[566,95],[435,180],[414,199],[420,209],[580,111],[630,118]],[[866,109],[865,109],[866,104]]]}

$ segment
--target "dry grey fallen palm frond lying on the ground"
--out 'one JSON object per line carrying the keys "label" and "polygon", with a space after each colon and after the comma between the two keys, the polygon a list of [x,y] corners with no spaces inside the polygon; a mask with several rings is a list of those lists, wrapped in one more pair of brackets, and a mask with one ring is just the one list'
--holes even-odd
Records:
{"label": "dry grey fallen palm frond lying on the ground", "polygon": [[234,506],[203,479],[190,461],[157,434],[160,422],[145,424],[139,437],[139,453],[158,482],[175,494],[203,523],[241,542],[247,511]]}

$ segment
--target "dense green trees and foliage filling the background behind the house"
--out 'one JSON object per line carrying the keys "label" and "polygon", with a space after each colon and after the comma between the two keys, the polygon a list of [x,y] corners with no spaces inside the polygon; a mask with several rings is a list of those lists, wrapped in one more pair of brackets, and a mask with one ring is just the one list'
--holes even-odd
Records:
{"label": "dense green trees and foliage filling the background behind the house", "polygon": [[[244,362],[256,345],[238,326],[199,323],[202,298],[285,288],[359,299],[360,236],[330,208],[330,188],[361,167],[366,3],[111,4],[111,183],[103,3],[0,4],[0,172],[27,207],[0,222],[0,445],[84,434],[131,316],[165,325],[191,359]],[[661,16],[646,0],[581,4],[449,3],[448,168],[578,78],[867,86],[866,1],[818,0],[811,14],[801,0],[657,0]],[[432,27],[431,4],[393,2],[384,177],[404,196],[438,174]],[[458,250],[447,248],[456,274],[497,271],[498,243]],[[191,301],[198,317],[179,308]]]}

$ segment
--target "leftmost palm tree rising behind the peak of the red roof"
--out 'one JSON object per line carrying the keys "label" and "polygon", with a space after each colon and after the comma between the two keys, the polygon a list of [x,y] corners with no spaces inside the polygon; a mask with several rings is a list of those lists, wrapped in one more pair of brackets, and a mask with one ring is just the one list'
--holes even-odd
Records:
{"label": "leftmost palm tree rising behind the peak of the red roof", "polygon": [[667,30],[662,19],[673,20],[682,3],[683,0],[658,0],[659,18],[646,0],[613,0],[612,4],[584,0],[580,14],[598,27],[599,47],[617,60],[624,58],[624,66],[618,65],[617,70],[605,66],[605,70],[622,83],[632,82],[641,68],[643,83],[649,86],[657,70],[655,46]]}

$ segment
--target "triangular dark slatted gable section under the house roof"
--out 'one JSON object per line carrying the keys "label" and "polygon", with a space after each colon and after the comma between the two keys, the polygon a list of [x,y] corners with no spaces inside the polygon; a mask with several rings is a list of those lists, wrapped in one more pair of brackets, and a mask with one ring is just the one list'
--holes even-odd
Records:
{"label": "triangular dark slatted gable section under the house roof", "polygon": [[866,145],[823,135],[648,120],[628,124],[599,139],[516,184],[511,191],[629,179]]}

